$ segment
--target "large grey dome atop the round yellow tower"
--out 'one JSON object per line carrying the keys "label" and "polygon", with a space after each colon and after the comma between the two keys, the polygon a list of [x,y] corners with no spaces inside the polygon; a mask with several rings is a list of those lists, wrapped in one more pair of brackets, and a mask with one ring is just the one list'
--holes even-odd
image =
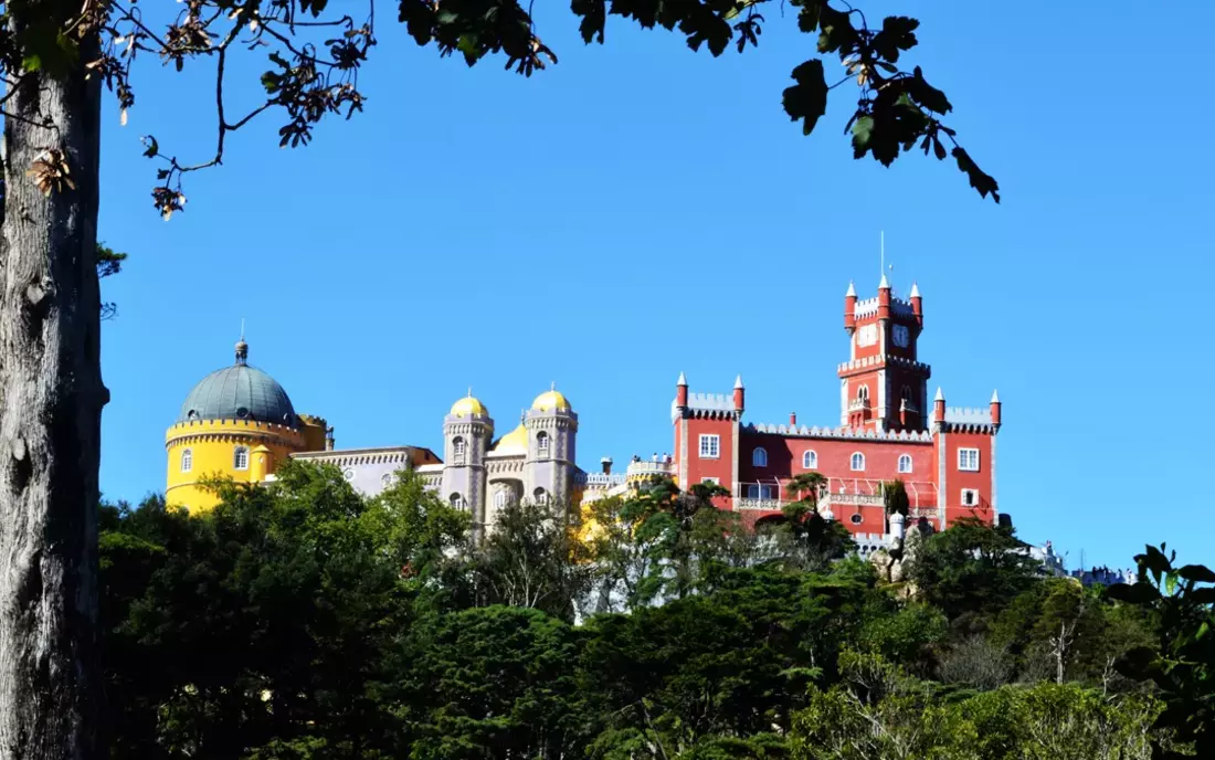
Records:
{"label": "large grey dome atop the round yellow tower", "polygon": [[202,379],[181,405],[177,422],[191,420],[255,420],[298,427],[295,407],[275,378],[237,358],[231,367]]}

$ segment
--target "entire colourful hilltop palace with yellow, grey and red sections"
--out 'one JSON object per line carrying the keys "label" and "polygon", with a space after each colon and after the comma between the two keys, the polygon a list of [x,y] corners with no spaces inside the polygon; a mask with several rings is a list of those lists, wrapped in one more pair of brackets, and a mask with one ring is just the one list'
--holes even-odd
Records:
{"label": "entire colourful hilltop palace with yellow, grey and red sections", "polygon": [[442,420],[442,456],[424,446],[340,450],[333,428],[296,413],[272,377],[248,364],[242,338],[233,365],[204,377],[186,396],[165,437],[169,503],[208,510],[216,503],[204,480],[273,480],[287,457],[337,466],[358,491],[374,495],[402,469],[417,472],[426,488],[468,510],[479,529],[492,528],[507,505],[525,500],[584,503],[625,494],[654,477],[682,488],[716,483],[728,496],[719,508],[742,513],[747,524],[781,519],[798,499],[790,480],[819,473],[819,512],[841,520],[870,548],[891,535],[882,484],[902,480],[911,519],[944,529],[961,518],[994,523],[996,434],[1001,405],[993,394],[978,409],[946,406],[940,388],[928,398],[931,367],[920,360],[923,299],[912,286],[897,297],[886,277],[877,295],[844,295],[848,360],[838,365],[840,423],[827,427],[768,424],[744,420],[741,376],[730,393],[693,393],[679,375],[671,404],[673,455],[642,460],[612,473],[576,462],[578,416],[555,385],[541,393],[516,427],[499,435],[490,410],[471,395],[458,399]]}

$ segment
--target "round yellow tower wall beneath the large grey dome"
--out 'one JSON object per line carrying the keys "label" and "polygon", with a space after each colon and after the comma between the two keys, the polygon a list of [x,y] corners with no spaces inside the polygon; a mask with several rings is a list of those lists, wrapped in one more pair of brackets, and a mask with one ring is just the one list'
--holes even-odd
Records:
{"label": "round yellow tower wall beneath the large grey dome", "polygon": [[[272,467],[295,451],[305,451],[305,445],[300,430],[269,422],[202,420],[177,423],[165,433],[169,458],[165,502],[191,512],[210,510],[219,503],[219,497],[200,485],[202,480],[219,475],[237,483],[261,482],[270,473],[258,472],[255,449],[265,446],[269,450],[269,466]],[[237,446],[249,449],[245,469],[236,468]],[[191,452],[191,468],[182,472],[181,457],[186,449]]]}

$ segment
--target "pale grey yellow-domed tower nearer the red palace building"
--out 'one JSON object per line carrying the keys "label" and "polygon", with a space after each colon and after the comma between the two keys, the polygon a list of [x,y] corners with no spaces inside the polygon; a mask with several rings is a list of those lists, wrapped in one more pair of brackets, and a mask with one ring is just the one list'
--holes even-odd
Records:
{"label": "pale grey yellow-domed tower nearer the red palace building", "polygon": [[524,465],[525,499],[567,505],[572,497],[575,439],[578,416],[555,388],[536,396],[524,415],[527,460]]}

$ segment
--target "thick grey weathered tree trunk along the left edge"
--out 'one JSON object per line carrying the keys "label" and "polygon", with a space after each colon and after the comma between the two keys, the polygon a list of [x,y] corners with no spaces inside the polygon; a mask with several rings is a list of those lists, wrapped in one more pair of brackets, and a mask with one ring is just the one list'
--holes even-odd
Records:
{"label": "thick grey weathered tree trunk along the left edge", "polygon": [[[22,4],[47,13],[58,4]],[[11,23],[23,26],[21,10]],[[101,456],[94,40],[62,79],[5,102],[0,225],[0,759],[96,758],[97,467]],[[52,124],[45,126],[44,124]],[[61,152],[75,188],[26,170]]]}

